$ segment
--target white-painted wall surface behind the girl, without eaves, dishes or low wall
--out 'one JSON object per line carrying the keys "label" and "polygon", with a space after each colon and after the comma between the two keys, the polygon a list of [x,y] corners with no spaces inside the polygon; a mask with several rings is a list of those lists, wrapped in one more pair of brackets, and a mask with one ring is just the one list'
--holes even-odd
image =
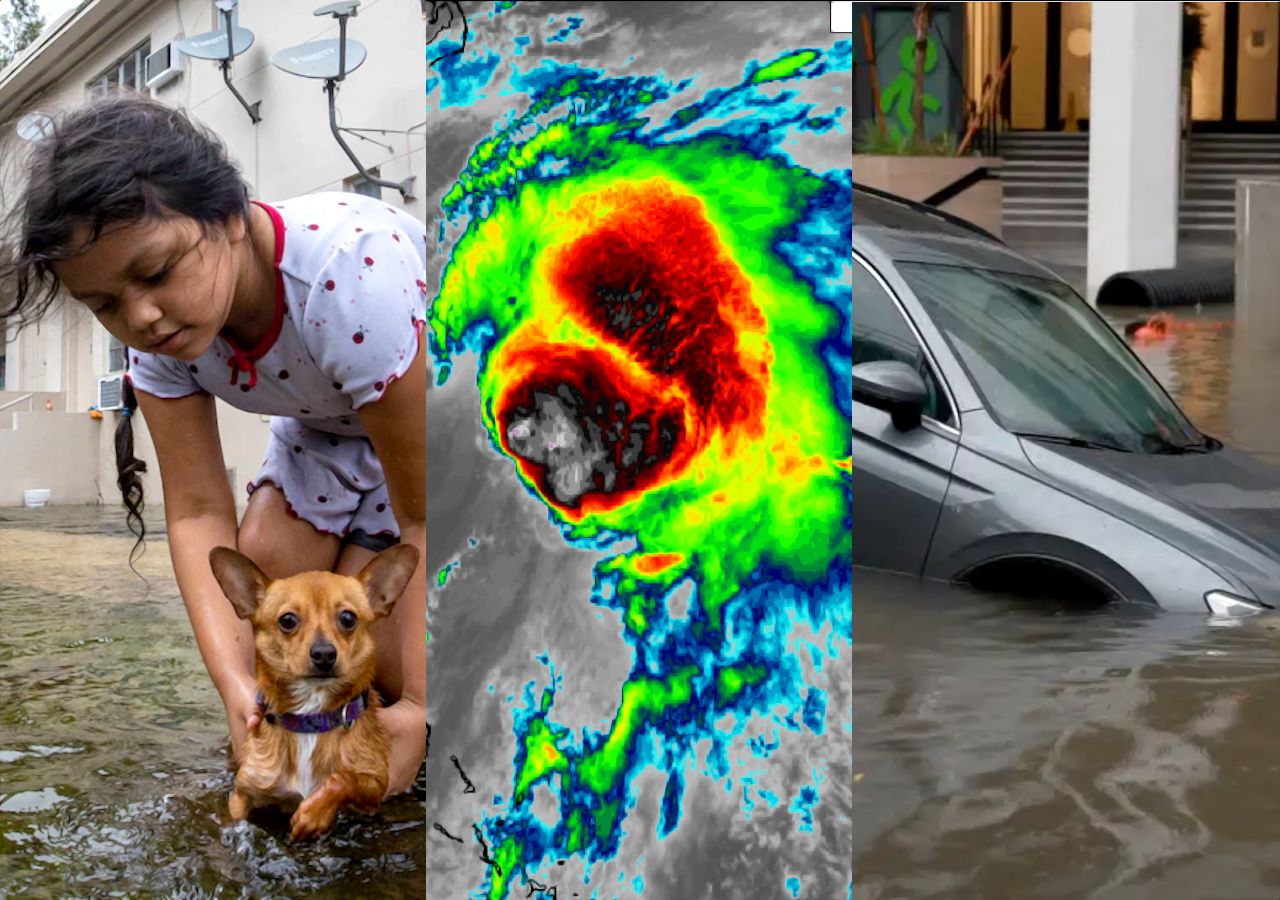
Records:
{"label": "white-painted wall surface behind the girl, without eaves, dishes or low wall", "polygon": [[[324,82],[289,76],[270,65],[271,54],[297,44],[338,36],[338,22],[316,17],[316,0],[247,0],[241,4],[239,26],[255,35],[253,46],[233,64],[232,81],[248,102],[260,101],[261,122],[255,125],[227,90],[216,63],[184,60],[183,74],[155,91],[154,96],[184,109],[188,115],[216,132],[227,143],[250,183],[253,197],[280,201],[315,191],[342,191],[358,173],[329,131]],[[54,45],[45,52],[65,54],[65,70],[42,84],[20,108],[0,122],[0,209],[9,209],[18,196],[24,143],[14,134],[22,113],[55,114],[86,97],[86,84],[109,65],[150,38],[151,49],[182,36],[211,31],[216,12],[211,0],[96,0],[79,15],[113,14],[111,29],[100,26],[91,38],[74,46]],[[364,65],[347,76],[338,91],[338,123],[351,128],[384,129],[361,132],[376,141],[344,134],[366,169],[379,168],[392,182],[426,168],[422,93],[422,13],[410,0],[364,0],[358,15],[348,19],[348,37],[369,51]],[[0,106],[5,102],[0,84]],[[384,145],[384,146],[379,146]],[[415,184],[421,195],[421,183]],[[390,188],[383,200],[425,216],[421,200],[406,201]],[[9,376],[14,390],[64,390],[67,408],[87,417],[97,399],[97,378],[108,370],[109,335],[92,316],[68,301],[50,312],[40,326],[31,326],[10,344]],[[106,414],[97,429],[97,481],[106,502],[114,503],[115,461],[113,435],[118,414]],[[138,456],[151,465],[145,489],[159,503],[160,479],[150,438],[141,417],[137,428]],[[260,416],[242,414],[219,403],[219,425],[229,469],[236,471],[236,499],[244,503],[243,488],[261,463],[268,426]],[[0,435],[0,440],[4,435]],[[0,498],[0,504],[4,499]]]}

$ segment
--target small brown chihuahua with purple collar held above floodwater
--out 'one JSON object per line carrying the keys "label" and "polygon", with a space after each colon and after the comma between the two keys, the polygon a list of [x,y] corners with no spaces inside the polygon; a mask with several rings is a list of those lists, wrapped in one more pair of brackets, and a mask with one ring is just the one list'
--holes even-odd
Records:
{"label": "small brown chihuahua with purple collar held above floodwater", "polygon": [[371,813],[387,792],[387,735],[374,714],[370,625],[388,615],[417,549],[383,550],[355,577],[301,572],[273,581],[225,547],[209,554],[241,618],[253,625],[262,721],[244,743],[230,813],[298,803],[289,840],[326,832],[343,808]]}

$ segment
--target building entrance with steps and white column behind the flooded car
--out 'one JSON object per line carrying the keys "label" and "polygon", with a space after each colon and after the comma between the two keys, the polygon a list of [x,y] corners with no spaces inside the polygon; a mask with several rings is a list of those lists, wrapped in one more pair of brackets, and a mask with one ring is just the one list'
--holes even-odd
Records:
{"label": "building entrance with steps and white column behind the flooded car", "polygon": [[1280,178],[1280,3],[855,3],[863,136],[914,131],[922,5],[925,137],[977,122],[1004,237],[1078,245],[1091,297],[1115,271],[1229,256],[1235,183]]}

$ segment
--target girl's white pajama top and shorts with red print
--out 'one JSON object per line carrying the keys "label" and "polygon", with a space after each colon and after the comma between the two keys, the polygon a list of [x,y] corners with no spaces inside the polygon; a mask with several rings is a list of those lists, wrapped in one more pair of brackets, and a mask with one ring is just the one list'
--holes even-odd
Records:
{"label": "girl's white pajama top and shorts with red print", "polygon": [[[426,325],[426,234],[403,210],[355,193],[259,204],[275,225],[276,306],[253,348],[219,335],[191,362],[129,351],[134,388],[163,398],[206,392],[271,416],[248,492],[271,483],[317,530],[394,543],[385,478],[356,411],[417,357]],[[390,539],[390,540],[388,540]]]}

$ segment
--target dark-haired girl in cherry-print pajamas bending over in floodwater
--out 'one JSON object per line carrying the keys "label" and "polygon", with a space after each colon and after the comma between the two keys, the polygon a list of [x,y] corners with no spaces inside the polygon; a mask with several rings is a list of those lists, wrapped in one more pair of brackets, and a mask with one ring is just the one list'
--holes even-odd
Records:
{"label": "dark-haired girl in cherry-print pajamas bending over in floodwater", "polygon": [[[119,486],[141,543],[136,396],[178,588],[239,758],[260,721],[253,644],[210,549],[238,547],[270,577],[353,575],[399,540],[426,559],[422,225],[351,193],[250,202],[214,134],[137,96],[65,114],[35,146],[13,215],[0,317],[37,317],[64,289],[129,348]],[[238,529],[215,397],[273,416]],[[374,630],[388,794],[412,785],[426,751],[422,565]]]}

